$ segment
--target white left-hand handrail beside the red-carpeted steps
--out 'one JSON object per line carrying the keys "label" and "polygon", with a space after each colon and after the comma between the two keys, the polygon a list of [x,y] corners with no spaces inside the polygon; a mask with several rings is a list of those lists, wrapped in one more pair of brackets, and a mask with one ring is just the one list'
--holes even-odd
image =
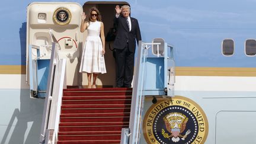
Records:
{"label": "white left-hand handrail beside the red-carpeted steps", "polygon": [[49,34],[52,37],[52,53],[39,141],[39,143],[47,144],[57,141],[60,106],[66,77],[66,59],[59,58],[60,45],[53,35],[52,30],[49,31]]}

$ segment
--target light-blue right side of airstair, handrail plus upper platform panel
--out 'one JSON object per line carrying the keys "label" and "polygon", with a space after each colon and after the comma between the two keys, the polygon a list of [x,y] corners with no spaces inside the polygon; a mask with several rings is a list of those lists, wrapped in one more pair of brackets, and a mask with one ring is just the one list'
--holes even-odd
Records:
{"label": "light-blue right side of airstair, handrail plus upper platform panel", "polygon": [[[163,46],[164,44],[164,46]],[[161,49],[159,46],[161,45]],[[155,49],[153,49],[155,47]],[[151,49],[152,48],[152,49]],[[152,53],[149,53],[152,52]],[[152,54],[152,55],[151,55]],[[123,128],[121,135],[121,143],[139,143],[140,132],[142,129],[142,113],[144,107],[144,100],[146,95],[165,95],[167,97],[174,96],[174,68],[175,62],[173,57],[173,48],[164,40],[161,43],[153,41],[153,43],[144,43],[139,41],[139,52],[137,55],[135,78],[133,79],[133,93],[132,93],[132,105],[130,111],[129,129]],[[161,61],[161,66],[164,71],[161,75],[156,76],[156,81],[151,87],[150,83],[152,72],[151,62],[156,60]],[[155,65],[155,63],[153,63]],[[159,68],[161,67],[159,66]],[[155,66],[156,67],[156,66]],[[158,71],[153,69],[152,71]],[[155,72],[154,74],[156,74]]]}

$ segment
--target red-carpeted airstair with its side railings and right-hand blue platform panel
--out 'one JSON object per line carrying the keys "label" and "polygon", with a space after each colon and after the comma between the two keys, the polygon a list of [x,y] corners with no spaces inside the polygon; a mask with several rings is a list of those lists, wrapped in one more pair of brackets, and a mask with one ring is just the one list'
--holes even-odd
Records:
{"label": "red-carpeted airstair with its side railings and right-hand blue platform panel", "polygon": [[174,96],[172,46],[163,39],[139,41],[133,88],[77,89],[65,86],[65,59],[51,36],[40,143],[145,143],[145,105]]}

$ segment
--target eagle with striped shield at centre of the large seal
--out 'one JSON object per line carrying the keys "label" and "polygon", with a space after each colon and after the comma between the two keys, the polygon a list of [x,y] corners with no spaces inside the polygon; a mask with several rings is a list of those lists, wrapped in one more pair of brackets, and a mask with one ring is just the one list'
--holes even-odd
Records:
{"label": "eagle with striped shield at centre of the large seal", "polygon": [[[182,140],[185,140],[185,138],[190,134],[189,129],[187,130],[187,132],[185,132],[188,118],[184,114],[169,113],[165,115],[163,119],[165,122],[165,127],[169,133],[165,133],[165,129],[162,129],[162,135],[165,138],[172,140],[172,142],[179,142],[180,137]],[[185,132],[185,135],[182,135],[183,132]]]}

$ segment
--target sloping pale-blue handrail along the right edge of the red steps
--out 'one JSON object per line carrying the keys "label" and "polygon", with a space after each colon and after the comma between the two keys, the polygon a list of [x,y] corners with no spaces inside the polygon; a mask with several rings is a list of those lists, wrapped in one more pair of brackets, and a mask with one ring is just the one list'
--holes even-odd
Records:
{"label": "sloping pale-blue handrail along the right edge of the red steps", "polygon": [[[133,79],[133,93],[132,93],[132,104],[130,110],[130,123],[129,123],[129,143],[139,142],[140,123],[142,116],[143,100],[145,95],[143,94],[143,87],[145,85],[146,75],[146,57],[148,56],[149,46],[159,45],[161,43],[144,43],[139,41],[138,59],[136,62],[135,78]],[[159,55],[159,54],[158,54]],[[141,73],[140,73],[141,72]],[[121,136],[123,137],[123,136]]]}

